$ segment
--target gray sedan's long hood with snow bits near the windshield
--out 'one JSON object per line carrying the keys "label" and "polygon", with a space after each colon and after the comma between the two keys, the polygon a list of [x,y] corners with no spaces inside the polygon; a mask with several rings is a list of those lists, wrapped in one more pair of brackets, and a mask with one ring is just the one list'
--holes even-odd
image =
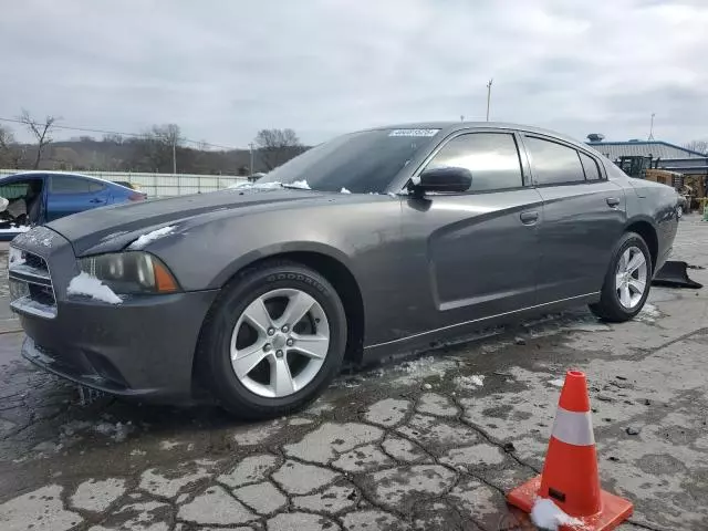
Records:
{"label": "gray sedan's long hood with snow bits near the windshield", "polygon": [[58,219],[46,226],[74,247],[76,256],[123,249],[140,236],[178,223],[188,229],[197,219],[214,215],[246,215],[293,201],[326,200],[329,194],[294,189],[230,189],[192,196],[104,207]]}

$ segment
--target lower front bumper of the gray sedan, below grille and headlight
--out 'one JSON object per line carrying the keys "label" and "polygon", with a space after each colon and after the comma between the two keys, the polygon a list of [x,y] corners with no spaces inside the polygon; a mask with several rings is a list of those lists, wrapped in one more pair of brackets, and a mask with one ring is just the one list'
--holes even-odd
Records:
{"label": "lower front bumper of the gray sedan, below grille and headlight", "polygon": [[59,303],[55,319],[20,314],[22,355],[81,385],[149,402],[188,402],[199,331],[216,291],[118,306]]}

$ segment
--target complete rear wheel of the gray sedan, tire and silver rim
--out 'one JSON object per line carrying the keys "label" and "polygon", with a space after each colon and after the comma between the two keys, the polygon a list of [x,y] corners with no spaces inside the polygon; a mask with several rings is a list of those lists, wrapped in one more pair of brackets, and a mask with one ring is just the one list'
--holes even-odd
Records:
{"label": "complete rear wheel of the gray sedan, tire and silver rim", "polygon": [[617,242],[602,287],[590,310],[600,319],[622,323],[644,308],[652,283],[652,256],[644,239],[627,232]]}

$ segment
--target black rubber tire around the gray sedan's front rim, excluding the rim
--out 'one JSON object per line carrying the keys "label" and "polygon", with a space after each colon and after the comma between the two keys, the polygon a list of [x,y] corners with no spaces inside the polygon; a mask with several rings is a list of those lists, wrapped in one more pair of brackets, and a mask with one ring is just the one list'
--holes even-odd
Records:
{"label": "black rubber tire around the gray sedan's front rim, excluding the rim", "polygon": [[[330,344],[319,373],[303,388],[284,397],[264,397],[249,391],[230,361],[233,329],[248,305],[278,289],[296,289],[322,308],[330,325]],[[336,291],[316,271],[291,261],[268,261],[229,282],[215,302],[198,347],[200,381],[219,404],[240,418],[263,419],[299,410],[313,402],[339,374],[346,348],[346,315]]]}

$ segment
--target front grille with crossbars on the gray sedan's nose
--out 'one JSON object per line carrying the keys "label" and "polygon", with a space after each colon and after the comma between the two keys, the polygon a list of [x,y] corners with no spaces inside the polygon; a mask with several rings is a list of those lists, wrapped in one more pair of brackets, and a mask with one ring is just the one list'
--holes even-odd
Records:
{"label": "front grille with crossbars on the gray sedan's nose", "polygon": [[56,316],[54,285],[42,257],[10,247],[8,278],[12,310],[44,319]]}

